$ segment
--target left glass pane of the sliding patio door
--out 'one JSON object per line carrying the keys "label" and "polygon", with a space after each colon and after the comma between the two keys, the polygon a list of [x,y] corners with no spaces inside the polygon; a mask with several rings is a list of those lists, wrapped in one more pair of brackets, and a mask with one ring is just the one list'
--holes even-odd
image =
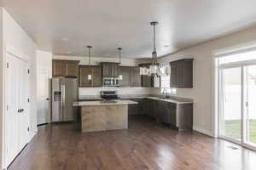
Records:
{"label": "left glass pane of the sliding patio door", "polygon": [[221,70],[221,133],[241,140],[241,67]]}

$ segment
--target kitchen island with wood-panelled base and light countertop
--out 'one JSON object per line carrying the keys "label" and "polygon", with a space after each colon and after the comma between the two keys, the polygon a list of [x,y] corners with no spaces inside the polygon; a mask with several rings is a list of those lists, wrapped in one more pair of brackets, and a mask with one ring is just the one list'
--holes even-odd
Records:
{"label": "kitchen island with wood-panelled base and light countertop", "polygon": [[79,107],[79,128],[81,132],[97,132],[128,128],[128,105],[131,100],[74,102]]}

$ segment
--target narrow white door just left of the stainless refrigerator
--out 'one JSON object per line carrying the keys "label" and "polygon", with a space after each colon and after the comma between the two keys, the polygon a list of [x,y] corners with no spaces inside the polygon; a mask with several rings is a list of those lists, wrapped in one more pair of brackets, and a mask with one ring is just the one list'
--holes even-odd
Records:
{"label": "narrow white door just left of the stainless refrigerator", "polygon": [[38,71],[38,125],[49,122],[49,71]]}

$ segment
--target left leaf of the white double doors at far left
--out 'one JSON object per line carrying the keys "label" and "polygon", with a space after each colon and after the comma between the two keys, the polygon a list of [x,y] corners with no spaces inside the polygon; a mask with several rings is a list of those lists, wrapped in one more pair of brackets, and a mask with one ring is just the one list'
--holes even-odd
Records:
{"label": "left leaf of the white double doors at far left", "polygon": [[5,156],[7,165],[15,159],[19,152],[19,59],[7,54],[7,111],[5,114]]}

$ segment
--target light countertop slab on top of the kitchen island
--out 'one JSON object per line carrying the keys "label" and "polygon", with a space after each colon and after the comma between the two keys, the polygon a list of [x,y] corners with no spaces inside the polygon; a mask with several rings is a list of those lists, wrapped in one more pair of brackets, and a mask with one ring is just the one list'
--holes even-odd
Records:
{"label": "light countertop slab on top of the kitchen island", "polygon": [[125,100],[111,100],[111,101],[79,101],[73,102],[73,106],[90,106],[90,105],[133,105],[137,104],[135,101],[130,99]]}

